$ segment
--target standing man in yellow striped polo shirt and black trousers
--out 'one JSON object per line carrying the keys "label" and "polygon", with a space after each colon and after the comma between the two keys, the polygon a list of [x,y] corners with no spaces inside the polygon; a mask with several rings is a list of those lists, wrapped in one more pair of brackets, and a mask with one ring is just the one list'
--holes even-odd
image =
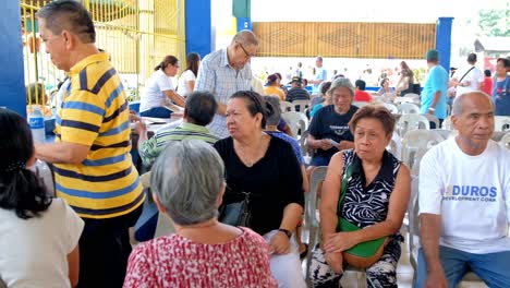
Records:
{"label": "standing man in yellow striped polo shirt and black trousers", "polygon": [[130,155],[124,89],[109,56],[97,50],[93,20],[80,2],[53,1],[36,16],[53,64],[71,79],[56,142],[36,145],[36,157],[54,164],[57,195],[85,221],[78,287],[122,287],[127,229],[145,199]]}

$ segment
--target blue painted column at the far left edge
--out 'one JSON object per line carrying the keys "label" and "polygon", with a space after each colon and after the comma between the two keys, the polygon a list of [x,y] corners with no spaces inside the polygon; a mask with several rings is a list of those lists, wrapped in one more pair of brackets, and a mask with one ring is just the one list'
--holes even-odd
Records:
{"label": "blue painted column at the far left edge", "polygon": [[0,10],[0,107],[26,117],[20,1],[2,1]]}

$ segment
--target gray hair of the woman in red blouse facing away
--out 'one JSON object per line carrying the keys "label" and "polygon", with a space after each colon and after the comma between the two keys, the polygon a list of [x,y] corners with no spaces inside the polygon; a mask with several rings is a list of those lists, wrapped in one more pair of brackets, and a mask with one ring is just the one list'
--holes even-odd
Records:
{"label": "gray hair of the woman in red blouse facing away", "polygon": [[218,215],[223,171],[221,157],[209,144],[172,141],[153,167],[151,189],[175,224],[199,224]]}

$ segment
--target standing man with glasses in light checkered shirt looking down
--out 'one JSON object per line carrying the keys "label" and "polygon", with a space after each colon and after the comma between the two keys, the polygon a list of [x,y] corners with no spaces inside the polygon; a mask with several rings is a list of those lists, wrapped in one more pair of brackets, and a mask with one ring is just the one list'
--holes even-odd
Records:
{"label": "standing man with glasses in light checkered shirt looking down", "polygon": [[227,130],[227,100],[238,91],[252,89],[252,68],[250,60],[255,56],[258,40],[253,32],[239,32],[227,49],[207,55],[198,69],[195,91],[208,91],[215,94],[218,111],[207,127],[214,135],[229,136]]}

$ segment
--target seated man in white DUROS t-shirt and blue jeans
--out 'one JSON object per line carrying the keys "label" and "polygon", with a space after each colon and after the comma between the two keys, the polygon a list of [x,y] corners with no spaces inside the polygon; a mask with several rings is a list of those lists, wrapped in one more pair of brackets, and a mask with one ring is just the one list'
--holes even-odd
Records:
{"label": "seated man in white DUROS t-shirt and blue jeans", "polygon": [[459,134],[421,161],[416,287],[457,287],[467,271],[508,287],[510,151],[490,139],[494,105],[485,94],[457,97],[451,120]]}

